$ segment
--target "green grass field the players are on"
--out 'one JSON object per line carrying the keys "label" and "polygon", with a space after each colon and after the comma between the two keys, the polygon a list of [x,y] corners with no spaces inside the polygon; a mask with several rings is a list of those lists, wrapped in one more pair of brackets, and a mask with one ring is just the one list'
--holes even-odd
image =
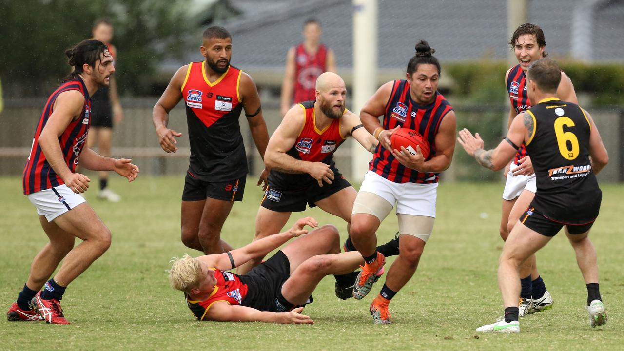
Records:
{"label": "green grass field the players are on", "polygon": [[[95,177],[92,177],[95,179]],[[94,182],[95,183],[95,182]],[[261,197],[250,179],[245,202],[237,203],[222,237],[234,247],[248,243]],[[197,322],[182,293],[168,287],[168,260],[191,252],[180,242],[180,177],[112,180],[124,197],[119,204],[87,200],[113,233],[110,249],[67,289],[63,309],[71,325],[0,322],[2,349],[62,350],[615,350],[624,347],[624,186],[602,185],[602,212],[591,235],[598,250],[601,292],[610,320],[602,329],[588,325],[587,290],[565,235],[538,254],[538,265],[555,299],[553,310],[521,319],[519,335],[487,335],[475,328],[502,313],[496,282],[502,248],[499,238],[502,184],[441,184],[434,234],[419,269],[391,304],[394,324],[373,325],[372,296],[338,300],[333,278],[324,279],[306,308],[314,325]],[[92,184],[95,187],[96,184]],[[0,291],[8,309],[29,272],[32,257],[45,244],[36,209],[21,195],[21,180],[0,178]],[[305,212],[319,223],[346,225],[318,209]],[[296,216],[293,215],[291,222]],[[387,241],[396,232],[389,216],[378,232]],[[392,260],[390,260],[391,262]]]}

